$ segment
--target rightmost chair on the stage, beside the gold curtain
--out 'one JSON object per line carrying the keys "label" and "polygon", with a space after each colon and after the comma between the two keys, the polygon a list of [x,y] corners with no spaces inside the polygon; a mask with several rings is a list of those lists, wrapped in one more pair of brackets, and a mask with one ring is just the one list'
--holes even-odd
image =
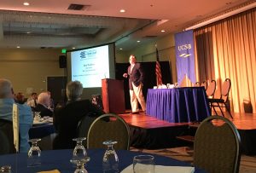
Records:
{"label": "rightmost chair on the stage, beside the gold curtain", "polygon": [[[229,101],[230,87],[231,87],[230,78],[226,78],[224,83],[222,84],[220,98],[218,98],[218,99],[215,99],[215,98],[208,99],[208,101],[210,102],[211,111],[212,111],[212,108],[213,108],[214,112],[217,115],[218,115],[218,113],[216,112],[214,107],[219,108],[222,116],[224,116],[224,112],[222,111],[221,107],[225,107],[227,109],[227,111],[230,113],[230,108],[227,105],[227,102]],[[231,113],[230,113],[230,117],[233,118]]]}

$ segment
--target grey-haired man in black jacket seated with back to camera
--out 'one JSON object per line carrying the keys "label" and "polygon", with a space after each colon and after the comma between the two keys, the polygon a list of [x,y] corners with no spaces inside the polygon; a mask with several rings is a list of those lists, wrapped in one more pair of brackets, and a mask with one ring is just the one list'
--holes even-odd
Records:
{"label": "grey-haired man in black jacket seated with back to camera", "polygon": [[[53,141],[54,149],[75,147],[73,138],[78,137],[77,128],[79,121],[84,116],[98,117],[104,112],[89,100],[81,100],[83,85],[79,81],[71,81],[67,84],[67,105],[55,108],[54,125],[57,136]],[[86,136],[86,134],[84,134]]]}

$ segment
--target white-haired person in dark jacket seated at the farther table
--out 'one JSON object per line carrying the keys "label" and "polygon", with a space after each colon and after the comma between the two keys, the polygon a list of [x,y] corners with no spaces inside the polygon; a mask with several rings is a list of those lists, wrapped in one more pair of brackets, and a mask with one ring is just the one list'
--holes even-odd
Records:
{"label": "white-haired person in dark jacket seated at the farther table", "polygon": [[43,92],[38,95],[38,105],[35,107],[35,112],[40,112],[41,117],[50,116],[52,117],[53,112],[49,109],[50,95],[48,92]]}

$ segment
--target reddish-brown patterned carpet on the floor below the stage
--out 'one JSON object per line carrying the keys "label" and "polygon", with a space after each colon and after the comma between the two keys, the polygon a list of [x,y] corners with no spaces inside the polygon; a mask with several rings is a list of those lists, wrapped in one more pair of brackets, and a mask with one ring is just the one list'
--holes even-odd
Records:
{"label": "reddish-brown patterned carpet on the floor below the stage", "polygon": [[[154,153],[173,159],[193,162],[193,148],[191,147],[173,147],[157,150],[131,148],[131,151],[140,151],[143,153]],[[255,173],[256,172],[256,156],[241,155],[240,173]]]}

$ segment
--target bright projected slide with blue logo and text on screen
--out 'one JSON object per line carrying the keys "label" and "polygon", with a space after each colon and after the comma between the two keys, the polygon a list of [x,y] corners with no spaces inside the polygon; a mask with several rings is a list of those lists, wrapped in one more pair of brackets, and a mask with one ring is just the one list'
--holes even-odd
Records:
{"label": "bright projected slide with blue logo and text on screen", "polygon": [[84,88],[102,87],[102,78],[109,78],[108,45],[71,52],[71,78]]}

